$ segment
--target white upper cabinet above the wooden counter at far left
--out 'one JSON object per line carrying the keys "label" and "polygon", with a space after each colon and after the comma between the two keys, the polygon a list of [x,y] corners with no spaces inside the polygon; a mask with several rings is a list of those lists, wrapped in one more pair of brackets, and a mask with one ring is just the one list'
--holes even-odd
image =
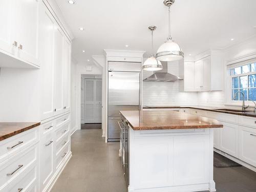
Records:
{"label": "white upper cabinet above the wooden counter at far left", "polygon": [[0,67],[39,68],[39,0],[0,0]]}

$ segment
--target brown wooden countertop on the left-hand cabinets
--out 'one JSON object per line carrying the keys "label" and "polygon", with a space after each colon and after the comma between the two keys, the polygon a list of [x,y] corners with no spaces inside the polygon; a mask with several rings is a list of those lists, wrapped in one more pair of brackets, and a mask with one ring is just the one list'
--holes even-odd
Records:
{"label": "brown wooden countertop on the left-hand cabinets", "polygon": [[0,141],[30,130],[40,125],[40,122],[0,122]]}

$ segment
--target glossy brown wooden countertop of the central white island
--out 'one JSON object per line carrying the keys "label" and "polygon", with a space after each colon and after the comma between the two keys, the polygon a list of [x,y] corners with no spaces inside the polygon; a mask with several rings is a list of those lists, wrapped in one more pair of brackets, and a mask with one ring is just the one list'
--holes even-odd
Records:
{"label": "glossy brown wooden countertop of the central white island", "polygon": [[133,130],[221,128],[219,121],[176,111],[120,111]]}

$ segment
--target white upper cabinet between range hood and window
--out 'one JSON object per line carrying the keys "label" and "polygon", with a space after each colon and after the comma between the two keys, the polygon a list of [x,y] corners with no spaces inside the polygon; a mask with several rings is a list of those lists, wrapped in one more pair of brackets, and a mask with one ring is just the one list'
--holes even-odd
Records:
{"label": "white upper cabinet between range hood and window", "polygon": [[[191,63],[194,63],[194,66]],[[197,56],[195,62],[184,62],[183,67],[184,89],[182,91],[223,90],[224,62],[220,50],[211,49]],[[194,89],[193,82],[195,83]]]}

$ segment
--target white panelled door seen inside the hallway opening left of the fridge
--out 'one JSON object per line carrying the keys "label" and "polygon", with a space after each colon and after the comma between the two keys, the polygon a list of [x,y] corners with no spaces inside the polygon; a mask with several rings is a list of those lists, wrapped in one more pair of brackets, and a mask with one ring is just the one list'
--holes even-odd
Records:
{"label": "white panelled door seen inside the hallway opening left of the fridge", "polygon": [[101,123],[101,79],[85,79],[85,123]]}

